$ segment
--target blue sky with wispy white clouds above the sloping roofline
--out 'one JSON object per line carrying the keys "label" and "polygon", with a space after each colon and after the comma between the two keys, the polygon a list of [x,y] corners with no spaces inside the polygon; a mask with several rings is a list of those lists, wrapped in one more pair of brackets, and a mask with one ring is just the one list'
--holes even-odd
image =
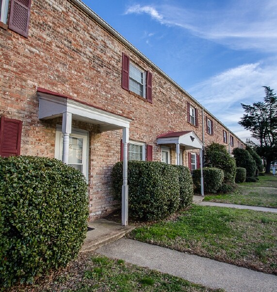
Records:
{"label": "blue sky with wispy white clouds above the sloping roofline", "polygon": [[244,141],[241,103],[277,93],[276,0],[83,0]]}

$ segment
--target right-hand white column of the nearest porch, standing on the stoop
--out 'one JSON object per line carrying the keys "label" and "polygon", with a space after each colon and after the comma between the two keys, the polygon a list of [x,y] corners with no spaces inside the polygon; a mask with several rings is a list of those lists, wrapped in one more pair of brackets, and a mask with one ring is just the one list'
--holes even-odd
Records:
{"label": "right-hand white column of the nearest porch, standing on the stoop", "polygon": [[129,128],[123,128],[123,185],[122,185],[122,225],[128,225],[128,142]]}

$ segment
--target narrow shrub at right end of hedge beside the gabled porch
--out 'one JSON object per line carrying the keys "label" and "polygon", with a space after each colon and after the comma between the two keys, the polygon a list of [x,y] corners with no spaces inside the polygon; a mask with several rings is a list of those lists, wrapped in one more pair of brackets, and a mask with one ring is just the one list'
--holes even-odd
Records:
{"label": "narrow shrub at right end of hedge beside the gabled porch", "polygon": [[189,168],[182,165],[173,165],[179,174],[180,208],[190,206],[193,203],[193,179]]}

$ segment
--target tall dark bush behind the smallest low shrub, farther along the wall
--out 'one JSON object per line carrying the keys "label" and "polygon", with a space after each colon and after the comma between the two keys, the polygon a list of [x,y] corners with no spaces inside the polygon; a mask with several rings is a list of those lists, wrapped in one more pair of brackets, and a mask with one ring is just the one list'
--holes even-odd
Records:
{"label": "tall dark bush behind the smallest low shrub, farther along the wall", "polygon": [[256,172],[256,162],[249,152],[243,148],[235,148],[233,155],[236,159],[237,167],[246,169],[246,176],[254,176]]}

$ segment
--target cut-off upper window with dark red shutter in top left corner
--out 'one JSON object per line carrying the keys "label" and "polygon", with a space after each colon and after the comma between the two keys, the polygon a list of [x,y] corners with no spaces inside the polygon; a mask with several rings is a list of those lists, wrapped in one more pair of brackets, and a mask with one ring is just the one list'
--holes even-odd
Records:
{"label": "cut-off upper window with dark red shutter in top left corner", "polygon": [[[17,34],[28,37],[31,0],[0,0],[0,21],[5,25],[8,20],[9,2],[11,2],[8,23],[9,29]],[[3,24],[1,26],[4,27]]]}

